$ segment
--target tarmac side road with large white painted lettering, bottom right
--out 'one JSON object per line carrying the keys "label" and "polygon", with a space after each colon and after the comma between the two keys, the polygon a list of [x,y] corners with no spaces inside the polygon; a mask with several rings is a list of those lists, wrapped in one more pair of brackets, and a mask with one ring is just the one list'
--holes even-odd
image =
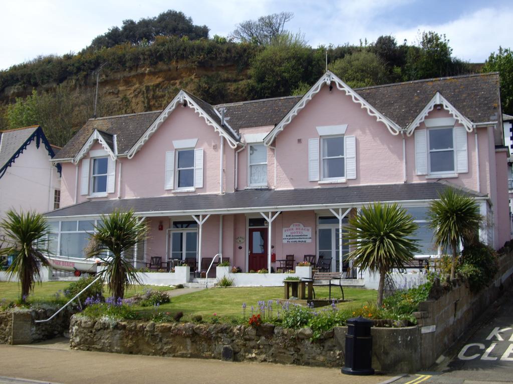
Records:
{"label": "tarmac side road with large white painted lettering, bottom right", "polygon": [[513,383],[513,289],[490,305],[488,312],[435,372],[408,375],[397,384]]}

